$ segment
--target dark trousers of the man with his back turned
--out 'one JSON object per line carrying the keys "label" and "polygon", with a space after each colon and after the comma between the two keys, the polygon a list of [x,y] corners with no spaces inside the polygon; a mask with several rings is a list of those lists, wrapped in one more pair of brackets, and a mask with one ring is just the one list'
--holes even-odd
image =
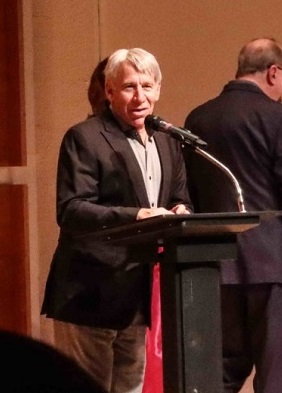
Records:
{"label": "dark trousers of the man with his back turned", "polygon": [[255,393],[282,392],[282,285],[222,285],[221,302],[224,392],[253,366]]}

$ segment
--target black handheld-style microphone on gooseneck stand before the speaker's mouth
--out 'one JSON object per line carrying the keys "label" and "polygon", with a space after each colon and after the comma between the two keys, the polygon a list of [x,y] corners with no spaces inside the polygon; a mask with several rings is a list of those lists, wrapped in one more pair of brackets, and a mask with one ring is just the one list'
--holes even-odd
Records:
{"label": "black handheld-style microphone on gooseneck stand before the speaker's mouth", "polygon": [[145,118],[145,128],[154,131],[161,131],[165,134],[170,135],[181,142],[186,142],[192,146],[199,148],[207,147],[207,143],[202,141],[197,135],[192,134],[191,131],[186,130],[182,127],[175,127],[174,125],[167,123],[158,116],[148,115]]}

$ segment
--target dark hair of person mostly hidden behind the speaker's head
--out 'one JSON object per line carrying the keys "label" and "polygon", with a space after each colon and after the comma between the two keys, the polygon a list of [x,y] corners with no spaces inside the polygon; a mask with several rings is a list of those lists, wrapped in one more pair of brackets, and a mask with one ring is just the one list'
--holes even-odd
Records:
{"label": "dark hair of person mostly hidden behind the speaker's head", "polygon": [[101,60],[94,69],[88,87],[88,100],[92,108],[93,115],[100,115],[108,106],[105,95],[105,75],[104,69],[108,62],[108,57]]}

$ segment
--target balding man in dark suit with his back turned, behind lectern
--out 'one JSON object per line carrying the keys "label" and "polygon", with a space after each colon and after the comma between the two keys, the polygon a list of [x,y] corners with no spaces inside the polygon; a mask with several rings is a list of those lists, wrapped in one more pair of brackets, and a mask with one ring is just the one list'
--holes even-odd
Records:
{"label": "balding man in dark suit with his back turned, behind lectern", "polygon": [[[185,121],[235,175],[247,211],[282,210],[281,98],[281,44],[259,38],[240,51],[235,80]],[[228,176],[193,149],[185,159],[195,212],[238,211]],[[221,263],[225,392],[238,392],[253,366],[256,393],[281,391],[281,240],[276,216],[240,234],[238,260]]]}

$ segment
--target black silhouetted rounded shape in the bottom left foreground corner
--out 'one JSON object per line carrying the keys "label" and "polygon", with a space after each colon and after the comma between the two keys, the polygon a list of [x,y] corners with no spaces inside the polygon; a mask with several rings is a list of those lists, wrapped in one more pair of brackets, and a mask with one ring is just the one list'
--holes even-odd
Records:
{"label": "black silhouetted rounded shape in the bottom left foreground corner", "polygon": [[3,330],[0,348],[6,393],[107,393],[75,361],[42,341]]}

